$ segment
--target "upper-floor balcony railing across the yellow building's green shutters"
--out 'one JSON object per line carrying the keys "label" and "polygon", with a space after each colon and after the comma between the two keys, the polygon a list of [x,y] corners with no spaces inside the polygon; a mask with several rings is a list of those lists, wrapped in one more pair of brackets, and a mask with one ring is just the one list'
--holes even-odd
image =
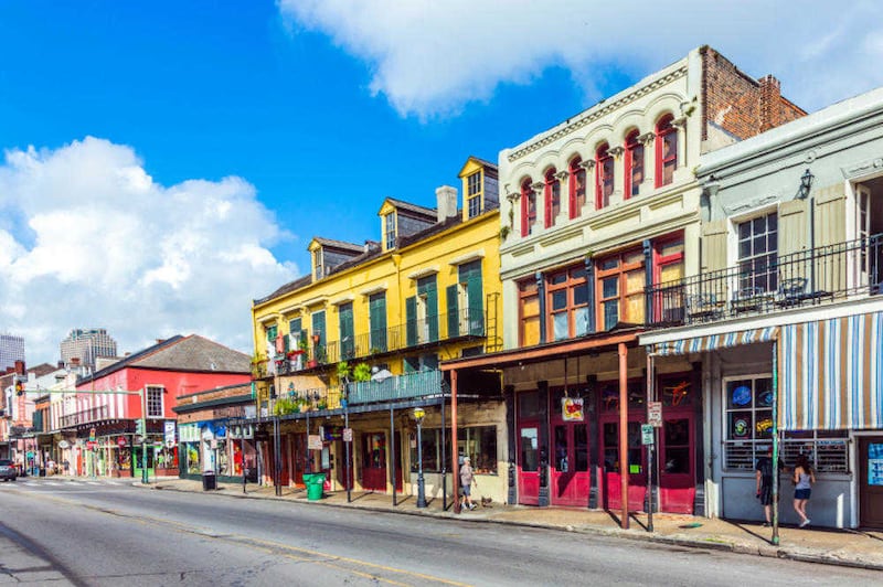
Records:
{"label": "upper-floor balcony railing across the yellow building's green shutters", "polygon": [[457,312],[442,312],[421,320],[386,329],[372,330],[355,337],[317,344],[311,340],[305,351],[291,356],[279,355],[258,369],[256,377],[290,375],[306,369],[336,364],[340,361],[366,359],[379,354],[458,339],[483,338],[486,314],[481,308],[466,308]]}

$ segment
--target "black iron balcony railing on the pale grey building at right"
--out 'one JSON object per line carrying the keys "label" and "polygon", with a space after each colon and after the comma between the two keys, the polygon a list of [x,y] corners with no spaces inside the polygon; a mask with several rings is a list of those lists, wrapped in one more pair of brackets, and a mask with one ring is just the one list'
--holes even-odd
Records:
{"label": "black iron balcony railing on the pale grey building at right", "polygon": [[755,257],[648,290],[648,325],[713,322],[883,294],[883,234]]}

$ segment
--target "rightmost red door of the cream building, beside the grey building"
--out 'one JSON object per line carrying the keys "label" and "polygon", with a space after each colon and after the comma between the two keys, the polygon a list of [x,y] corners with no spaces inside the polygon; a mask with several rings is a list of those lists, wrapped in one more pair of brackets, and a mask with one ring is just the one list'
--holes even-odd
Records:
{"label": "rightmost red door of the cream building, beside the grey building", "polygon": [[696,493],[693,415],[666,414],[659,435],[659,509],[693,513]]}

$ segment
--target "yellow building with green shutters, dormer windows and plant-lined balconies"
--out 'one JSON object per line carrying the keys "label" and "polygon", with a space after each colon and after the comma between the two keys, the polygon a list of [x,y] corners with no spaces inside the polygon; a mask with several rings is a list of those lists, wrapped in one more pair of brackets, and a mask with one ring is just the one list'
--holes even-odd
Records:
{"label": "yellow building with green shutters, dormer windows and plant-lined balconies", "polygon": [[[497,167],[469,158],[459,178],[461,207],[447,185],[436,190],[436,209],[389,198],[380,242],[316,237],[310,275],[254,302],[258,408],[264,426],[279,430],[264,470],[277,484],[325,471],[327,489],[345,489],[350,448],[352,489],[389,492],[395,482],[416,493],[403,471],[416,470],[413,410],[424,408],[427,493],[442,495],[450,415],[442,410],[448,385],[438,363],[502,346]],[[500,395],[499,378],[474,385]],[[500,402],[464,407],[460,426],[460,453],[496,476],[506,439]]]}

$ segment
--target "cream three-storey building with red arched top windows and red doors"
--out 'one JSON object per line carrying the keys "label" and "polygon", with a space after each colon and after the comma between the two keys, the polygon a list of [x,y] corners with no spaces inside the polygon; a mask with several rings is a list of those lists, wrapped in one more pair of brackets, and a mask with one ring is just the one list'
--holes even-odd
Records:
{"label": "cream three-storey building with red arched top windows and red doors", "polygon": [[[710,47],[500,153],[503,346],[450,361],[502,370],[509,501],[642,510],[650,324],[673,319],[660,282],[700,267],[700,157],[804,113],[773,77]],[[663,511],[704,511],[699,371],[673,361],[658,471]]]}

